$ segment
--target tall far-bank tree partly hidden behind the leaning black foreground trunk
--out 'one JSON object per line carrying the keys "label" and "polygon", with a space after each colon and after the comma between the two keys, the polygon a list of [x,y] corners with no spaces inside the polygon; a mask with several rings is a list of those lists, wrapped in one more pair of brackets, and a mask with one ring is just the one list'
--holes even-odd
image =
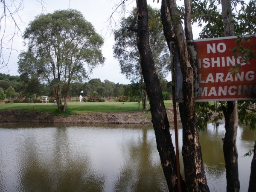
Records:
{"label": "tall far-bank tree partly hidden behind the leaning black foreground trunk", "polygon": [[[159,20],[159,10],[148,6],[150,46],[157,73],[160,79],[165,79],[170,66],[169,52],[163,37],[163,30]],[[127,29],[137,28],[137,12],[134,8],[129,17],[122,18],[121,26],[114,31],[114,57],[118,59],[121,73],[134,83],[140,83],[143,108],[146,109],[147,93],[140,67],[140,53],[137,48],[136,34]]]}

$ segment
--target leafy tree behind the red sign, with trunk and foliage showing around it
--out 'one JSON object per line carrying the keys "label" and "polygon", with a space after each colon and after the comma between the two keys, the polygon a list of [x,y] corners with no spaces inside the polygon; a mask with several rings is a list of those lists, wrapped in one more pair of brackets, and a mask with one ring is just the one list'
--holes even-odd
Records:
{"label": "leafy tree behind the red sign, with trunk and foliage showing around it", "polygon": [[[255,15],[256,12],[256,1],[249,1],[248,4],[244,0],[239,1],[205,1],[198,0],[193,1],[195,9],[193,9],[193,22],[198,22],[199,25],[205,22],[202,32],[200,33],[200,38],[212,38],[219,36],[233,36],[233,35],[245,35],[254,34],[256,19],[250,15]],[[222,4],[222,13],[218,9],[220,3]],[[237,9],[237,6],[240,9]],[[233,7],[231,7],[233,6]],[[242,38],[241,38],[242,39]],[[243,47],[240,44],[239,47]],[[245,60],[250,60],[246,49],[236,50],[236,54],[245,58]],[[236,56],[236,55],[235,55]],[[239,66],[237,66],[239,69]],[[224,157],[226,163],[226,177],[227,177],[227,191],[238,191],[239,190],[239,177],[238,177],[238,164],[237,164],[237,149],[236,149],[236,133],[237,133],[237,119],[241,122],[248,123],[251,128],[255,127],[254,122],[255,116],[255,106],[254,102],[250,101],[240,101],[237,106],[237,102],[228,101],[221,102],[221,107],[211,105],[210,103],[198,103],[198,111],[200,114],[198,117],[206,122],[212,116],[212,111],[218,113],[218,118],[222,117],[222,113],[225,117],[225,138],[224,138]],[[220,110],[222,108],[222,111]],[[207,112],[202,113],[202,109]],[[237,117],[237,111],[239,116]],[[205,118],[208,116],[208,118]],[[216,118],[216,120],[218,119]],[[251,170],[253,172],[253,170]]]}

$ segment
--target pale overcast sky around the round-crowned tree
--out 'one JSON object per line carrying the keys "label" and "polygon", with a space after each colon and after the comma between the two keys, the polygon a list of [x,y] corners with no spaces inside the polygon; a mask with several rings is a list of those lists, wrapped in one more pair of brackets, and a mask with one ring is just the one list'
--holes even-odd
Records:
{"label": "pale overcast sky around the round-crowned tree", "polygon": [[[102,47],[103,56],[106,58],[105,64],[104,66],[97,67],[90,77],[99,78],[101,81],[108,79],[114,83],[129,83],[129,81],[125,79],[125,76],[120,73],[118,61],[113,58],[113,35],[110,34],[111,30],[108,29],[108,19],[116,9],[116,4],[118,4],[120,0],[44,0],[45,3],[43,3],[43,7],[38,1],[40,0],[24,0],[23,9],[18,12],[19,15],[15,15],[15,20],[22,34],[24,29],[28,26],[29,21],[34,20],[35,16],[41,13],[52,13],[53,11],[60,9],[77,9],[84,15],[87,21],[93,24],[96,31],[105,38],[105,44]],[[6,2],[8,2],[8,0],[6,0]],[[127,11],[136,6],[135,0],[127,0],[125,3],[128,5]],[[155,0],[154,3],[153,0],[148,0],[148,4],[160,8],[160,3],[157,3],[157,0]],[[3,12],[2,9],[1,12]],[[116,21],[118,22],[118,13],[113,15],[113,17],[116,18]],[[8,23],[7,20],[6,23],[5,35],[12,34],[14,32],[14,22],[12,21],[12,23]],[[3,22],[1,21],[1,35],[3,35],[3,28]],[[5,42],[7,42],[7,40],[8,38],[5,38]],[[9,44],[6,46],[10,47],[11,45]],[[17,56],[20,51],[25,49],[25,47],[23,47],[21,34],[15,36],[12,48],[17,51],[12,51],[8,62],[8,69],[4,67],[0,69],[0,73],[19,75],[17,73]],[[6,58],[8,58],[8,52],[9,50],[3,50]],[[168,76],[168,80],[171,80],[170,75]]]}

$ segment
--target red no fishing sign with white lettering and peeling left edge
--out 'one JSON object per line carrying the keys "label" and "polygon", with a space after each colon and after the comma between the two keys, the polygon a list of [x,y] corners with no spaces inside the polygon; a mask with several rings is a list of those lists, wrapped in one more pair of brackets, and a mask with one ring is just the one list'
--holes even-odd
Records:
{"label": "red no fishing sign with white lettering and peeling left edge", "polygon": [[[195,84],[195,102],[256,99],[256,58],[247,64],[236,58],[231,49],[237,47],[237,37],[194,40],[198,69]],[[256,37],[246,36],[243,47],[253,46],[256,55]],[[239,70],[231,73],[241,65]]]}

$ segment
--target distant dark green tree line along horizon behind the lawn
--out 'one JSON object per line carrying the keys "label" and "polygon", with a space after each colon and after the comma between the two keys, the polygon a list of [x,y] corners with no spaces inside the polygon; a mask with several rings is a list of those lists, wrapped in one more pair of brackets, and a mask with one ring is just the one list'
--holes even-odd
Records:
{"label": "distant dark green tree line along horizon behind the lawn", "polygon": [[[172,82],[162,80],[161,87],[164,99],[170,99]],[[8,90],[12,93],[9,93]],[[81,91],[83,91],[83,93],[81,93]],[[90,79],[85,83],[71,83],[68,95],[70,98],[78,98],[80,94],[84,97],[90,97],[94,92],[102,99],[117,99],[117,101],[121,102],[139,101],[141,94],[143,94],[139,83],[119,84],[107,79],[104,81],[100,79]],[[40,99],[42,95],[50,97],[53,96],[53,93],[49,86],[41,84],[38,80],[0,73],[0,100],[13,98],[14,96],[20,99]]]}

